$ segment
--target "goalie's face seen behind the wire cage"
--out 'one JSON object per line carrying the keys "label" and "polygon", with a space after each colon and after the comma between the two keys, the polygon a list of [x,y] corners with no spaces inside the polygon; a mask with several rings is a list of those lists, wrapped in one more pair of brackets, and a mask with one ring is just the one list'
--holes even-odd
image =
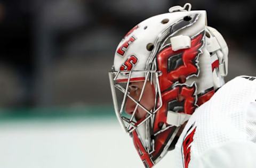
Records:
{"label": "goalie's face seen behind the wire cage", "polygon": [[[155,90],[153,85],[149,81],[147,81],[145,88],[143,90],[144,81],[140,82],[131,82],[129,84],[129,92],[130,96],[135,99],[137,102],[139,101],[140,95],[142,93],[142,97],[140,99],[140,104],[145,107],[148,111],[152,110],[155,106]],[[129,115],[132,115],[134,109],[136,107],[136,103],[131,98],[127,98],[125,103],[125,112]],[[147,112],[143,110],[141,107],[138,107],[135,111],[135,119],[137,121],[141,119],[145,119]]]}

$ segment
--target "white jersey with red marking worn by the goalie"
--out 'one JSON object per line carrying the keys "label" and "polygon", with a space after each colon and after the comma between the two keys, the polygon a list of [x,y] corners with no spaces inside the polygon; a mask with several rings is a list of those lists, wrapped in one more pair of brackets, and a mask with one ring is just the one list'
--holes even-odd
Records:
{"label": "white jersey with red marking worn by the goalie", "polygon": [[190,117],[174,149],[175,167],[256,167],[255,143],[256,77],[241,76]]}

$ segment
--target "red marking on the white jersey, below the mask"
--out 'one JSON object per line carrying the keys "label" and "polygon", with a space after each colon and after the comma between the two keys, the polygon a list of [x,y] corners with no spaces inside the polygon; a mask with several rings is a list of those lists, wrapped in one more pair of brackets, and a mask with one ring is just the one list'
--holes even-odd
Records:
{"label": "red marking on the white jersey, below the mask", "polygon": [[193,142],[193,137],[195,135],[196,128],[189,133],[189,135],[183,140],[182,149],[183,149],[183,158],[184,158],[184,166],[188,168],[188,164],[190,162],[190,149],[191,142]]}

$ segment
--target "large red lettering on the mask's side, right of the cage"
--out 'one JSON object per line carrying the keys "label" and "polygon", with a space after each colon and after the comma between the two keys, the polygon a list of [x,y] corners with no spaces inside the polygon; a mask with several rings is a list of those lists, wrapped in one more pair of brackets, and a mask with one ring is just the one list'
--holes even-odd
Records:
{"label": "large red lettering on the mask's side, right of the cage", "polygon": [[[183,111],[180,113],[192,114],[196,108],[196,86],[191,87],[187,85],[173,86],[175,82],[179,80],[179,77],[184,75],[186,78],[191,75],[198,74],[198,67],[196,65],[197,56],[199,55],[199,48],[203,46],[203,33],[197,35],[191,40],[191,47],[186,49],[180,49],[179,51],[172,51],[172,47],[166,47],[157,56],[158,69],[162,71],[162,75],[159,77],[159,84],[162,92],[163,105],[162,108],[156,113],[154,132],[158,131],[157,123],[166,122],[168,111],[168,103],[178,99],[179,102],[183,102]],[[176,69],[168,72],[167,63],[173,56],[182,54],[182,64]]]}

